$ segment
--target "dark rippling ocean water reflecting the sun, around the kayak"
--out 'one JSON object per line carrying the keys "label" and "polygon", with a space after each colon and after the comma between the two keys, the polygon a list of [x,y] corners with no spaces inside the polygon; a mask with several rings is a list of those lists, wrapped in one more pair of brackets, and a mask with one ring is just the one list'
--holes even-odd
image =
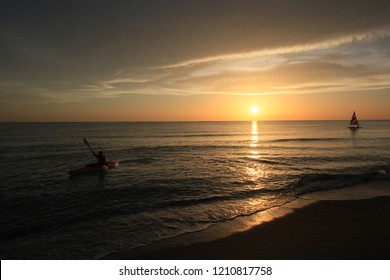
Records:
{"label": "dark rippling ocean water reflecting the sun, around the kayak", "polygon": [[[2,123],[2,259],[96,259],[389,178],[390,121]],[[69,177],[93,162],[119,168]]]}

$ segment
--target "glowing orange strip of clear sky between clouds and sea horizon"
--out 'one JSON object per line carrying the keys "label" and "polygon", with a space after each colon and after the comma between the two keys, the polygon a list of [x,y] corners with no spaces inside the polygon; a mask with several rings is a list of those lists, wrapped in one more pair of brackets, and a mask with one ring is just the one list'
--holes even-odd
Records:
{"label": "glowing orange strip of clear sky between clouds and sea horizon", "polygon": [[[359,97],[356,100],[353,98]],[[336,102],[334,102],[336,100]],[[10,106],[5,121],[237,121],[389,119],[388,94],[316,95],[194,95],[120,97],[95,104],[37,104]],[[253,106],[259,113],[251,113]],[[9,118],[9,116],[17,116]]]}

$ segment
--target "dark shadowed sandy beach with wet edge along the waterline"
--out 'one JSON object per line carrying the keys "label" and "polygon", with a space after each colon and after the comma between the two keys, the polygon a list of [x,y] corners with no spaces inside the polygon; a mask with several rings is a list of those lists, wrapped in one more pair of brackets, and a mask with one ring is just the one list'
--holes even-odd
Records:
{"label": "dark shadowed sandy beach with wet edge along the waterline", "polygon": [[[283,209],[284,208],[284,209]],[[108,259],[389,259],[390,181],[312,193],[258,225],[213,240]],[[283,213],[282,215],[280,213]],[[279,215],[279,217],[277,217]]]}

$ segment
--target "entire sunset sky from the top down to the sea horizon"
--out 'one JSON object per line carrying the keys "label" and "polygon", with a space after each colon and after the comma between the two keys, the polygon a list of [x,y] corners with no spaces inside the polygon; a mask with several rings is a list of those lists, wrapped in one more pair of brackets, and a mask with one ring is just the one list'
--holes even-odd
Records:
{"label": "entire sunset sky from the top down to the sea horizon", "polygon": [[0,121],[390,119],[389,15],[388,0],[1,1]]}

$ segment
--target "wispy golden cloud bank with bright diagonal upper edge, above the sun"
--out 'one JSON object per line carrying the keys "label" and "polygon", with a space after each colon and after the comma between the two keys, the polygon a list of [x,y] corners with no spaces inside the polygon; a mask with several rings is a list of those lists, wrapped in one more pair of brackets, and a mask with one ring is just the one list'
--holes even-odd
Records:
{"label": "wispy golden cloud bank with bright diagonal upper edge, above the sun", "polygon": [[[113,95],[302,94],[390,88],[390,30],[121,72]],[[138,76],[138,77],[137,77]],[[139,78],[142,77],[142,78]]]}

